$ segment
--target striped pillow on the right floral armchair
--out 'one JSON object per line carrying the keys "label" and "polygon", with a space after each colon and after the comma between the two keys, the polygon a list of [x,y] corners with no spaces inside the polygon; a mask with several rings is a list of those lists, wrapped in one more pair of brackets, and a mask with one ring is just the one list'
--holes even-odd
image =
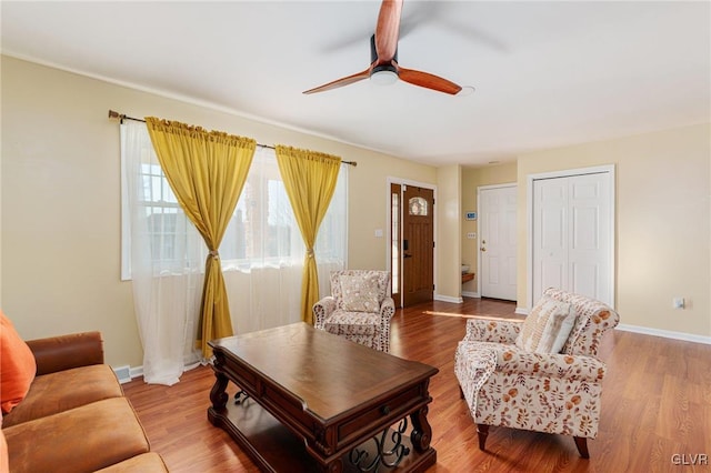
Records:
{"label": "striped pillow on the right floral armchair", "polygon": [[523,321],[515,345],[533,353],[558,353],[574,323],[572,304],[543,295]]}

